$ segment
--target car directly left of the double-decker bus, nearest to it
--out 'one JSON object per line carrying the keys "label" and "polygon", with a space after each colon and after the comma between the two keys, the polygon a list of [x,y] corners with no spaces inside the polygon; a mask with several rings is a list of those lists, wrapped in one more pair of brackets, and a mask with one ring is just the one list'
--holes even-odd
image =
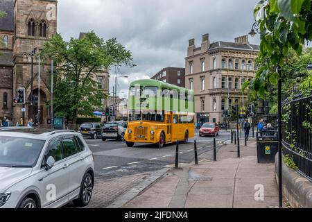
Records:
{"label": "car directly left of the double-decker bus, nearest to it", "polygon": [[125,121],[116,121],[112,123],[105,123],[102,128],[102,140],[119,139],[125,141],[125,130],[128,123]]}

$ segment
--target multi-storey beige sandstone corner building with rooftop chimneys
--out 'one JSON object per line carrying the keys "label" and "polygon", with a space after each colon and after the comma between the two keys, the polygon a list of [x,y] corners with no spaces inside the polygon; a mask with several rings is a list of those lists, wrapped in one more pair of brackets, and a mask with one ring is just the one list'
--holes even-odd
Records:
{"label": "multi-storey beige sandstone corner building with rooftop chimneys", "polygon": [[200,47],[189,40],[185,85],[194,90],[197,123],[223,123],[223,110],[230,111],[234,103],[246,106],[248,96],[241,86],[254,78],[258,53],[259,46],[250,44],[248,35],[234,42],[210,42],[205,34]]}

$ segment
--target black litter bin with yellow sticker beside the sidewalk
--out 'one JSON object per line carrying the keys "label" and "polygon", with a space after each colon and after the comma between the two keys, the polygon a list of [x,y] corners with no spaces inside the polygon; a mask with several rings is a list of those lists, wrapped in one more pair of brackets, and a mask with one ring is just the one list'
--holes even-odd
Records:
{"label": "black litter bin with yellow sticker beside the sidewalk", "polygon": [[278,151],[277,131],[257,132],[258,163],[274,163]]}

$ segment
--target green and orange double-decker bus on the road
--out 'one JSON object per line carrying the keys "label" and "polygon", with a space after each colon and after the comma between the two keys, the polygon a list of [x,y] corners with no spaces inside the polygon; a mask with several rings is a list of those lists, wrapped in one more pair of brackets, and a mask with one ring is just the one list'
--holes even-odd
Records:
{"label": "green and orange double-decker bus on the road", "polygon": [[125,142],[164,144],[194,137],[193,90],[157,80],[137,80],[130,84],[128,128]]}

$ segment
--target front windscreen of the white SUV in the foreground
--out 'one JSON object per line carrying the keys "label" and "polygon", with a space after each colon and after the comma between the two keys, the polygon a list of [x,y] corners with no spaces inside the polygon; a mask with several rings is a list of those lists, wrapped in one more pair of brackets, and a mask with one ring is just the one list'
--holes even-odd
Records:
{"label": "front windscreen of the white SUV in the foreground", "polygon": [[44,140],[0,136],[0,167],[34,167]]}

